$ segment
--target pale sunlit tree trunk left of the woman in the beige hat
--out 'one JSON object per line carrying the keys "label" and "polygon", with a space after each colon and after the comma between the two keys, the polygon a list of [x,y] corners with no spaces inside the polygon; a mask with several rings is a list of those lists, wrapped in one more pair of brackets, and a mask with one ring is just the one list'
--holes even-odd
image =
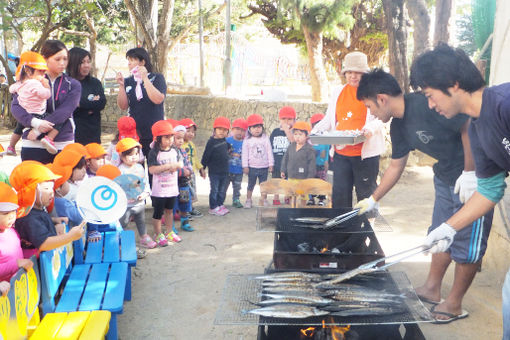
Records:
{"label": "pale sunlit tree trunk left of the woman in the beige hat", "polygon": [[328,78],[322,60],[322,33],[313,33],[303,25],[306,41],[308,64],[310,67],[310,85],[312,86],[312,101],[320,102],[325,99]]}

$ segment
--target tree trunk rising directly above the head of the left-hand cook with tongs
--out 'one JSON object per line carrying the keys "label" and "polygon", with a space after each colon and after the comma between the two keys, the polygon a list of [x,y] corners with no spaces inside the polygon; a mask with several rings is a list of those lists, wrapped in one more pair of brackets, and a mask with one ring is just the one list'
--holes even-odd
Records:
{"label": "tree trunk rising directly above the head of the left-hand cook with tongs", "polygon": [[409,91],[407,72],[407,31],[404,20],[404,0],[383,0],[388,34],[390,72],[397,79],[402,91]]}

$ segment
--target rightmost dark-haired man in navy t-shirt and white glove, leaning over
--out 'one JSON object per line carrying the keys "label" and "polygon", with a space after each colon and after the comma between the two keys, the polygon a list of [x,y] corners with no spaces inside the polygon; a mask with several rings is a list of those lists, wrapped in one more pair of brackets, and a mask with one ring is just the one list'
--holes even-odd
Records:
{"label": "rightmost dark-haired man in navy t-shirt and white glove, leaning over", "polygon": [[[472,86],[473,80],[477,83]],[[445,237],[431,252],[444,252],[451,239],[494,208],[503,197],[510,171],[510,83],[485,87],[475,65],[460,50],[440,45],[418,57],[411,85],[421,88],[430,107],[447,118],[472,117],[469,139],[475,159],[477,190],[455,215],[431,232],[425,244]],[[503,339],[510,339],[510,271],[503,284]]]}

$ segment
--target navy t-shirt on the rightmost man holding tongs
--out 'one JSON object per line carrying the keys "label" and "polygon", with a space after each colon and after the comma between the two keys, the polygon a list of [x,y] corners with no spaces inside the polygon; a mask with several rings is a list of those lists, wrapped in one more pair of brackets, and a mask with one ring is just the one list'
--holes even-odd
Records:
{"label": "navy t-shirt on the rightmost man holding tongs", "polygon": [[476,176],[510,171],[510,83],[483,91],[480,117],[469,126]]}

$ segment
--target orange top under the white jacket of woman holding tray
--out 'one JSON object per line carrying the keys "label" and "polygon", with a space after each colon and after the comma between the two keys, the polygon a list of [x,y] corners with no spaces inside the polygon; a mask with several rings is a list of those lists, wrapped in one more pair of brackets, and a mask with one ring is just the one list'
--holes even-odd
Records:
{"label": "orange top under the white jacket of woman holding tray", "polygon": [[[357,88],[345,85],[336,101],[336,129],[361,130],[367,120],[367,107],[362,101],[356,99]],[[361,156],[363,143],[346,145],[341,150],[335,150],[344,156]]]}

